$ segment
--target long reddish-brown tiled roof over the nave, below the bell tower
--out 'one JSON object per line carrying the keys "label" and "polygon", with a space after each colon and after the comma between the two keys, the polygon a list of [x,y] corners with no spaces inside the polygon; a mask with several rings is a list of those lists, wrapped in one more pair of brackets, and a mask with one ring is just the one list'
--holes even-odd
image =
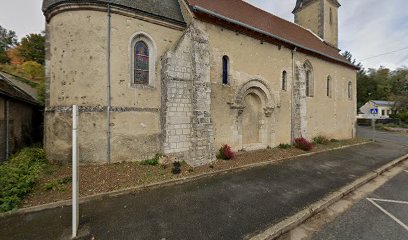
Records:
{"label": "long reddish-brown tiled roof over the nave, below the bell tower", "polygon": [[221,19],[217,24],[232,24],[266,35],[281,42],[312,52],[325,59],[358,69],[339,50],[326,44],[310,30],[279,18],[242,0],[186,0],[198,17]]}

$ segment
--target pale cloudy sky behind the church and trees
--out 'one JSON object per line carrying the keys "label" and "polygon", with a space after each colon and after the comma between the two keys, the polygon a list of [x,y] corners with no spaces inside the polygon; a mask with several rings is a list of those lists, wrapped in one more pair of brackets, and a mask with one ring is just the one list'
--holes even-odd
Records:
{"label": "pale cloudy sky behind the church and trees", "polygon": [[[296,0],[247,1],[293,21],[291,12]],[[340,49],[350,51],[365,68],[408,66],[408,0],[339,2]],[[0,0],[0,25],[14,30],[19,38],[40,33],[45,26],[41,4],[42,0]],[[382,55],[389,52],[394,53]],[[371,58],[377,55],[381,56]]]}

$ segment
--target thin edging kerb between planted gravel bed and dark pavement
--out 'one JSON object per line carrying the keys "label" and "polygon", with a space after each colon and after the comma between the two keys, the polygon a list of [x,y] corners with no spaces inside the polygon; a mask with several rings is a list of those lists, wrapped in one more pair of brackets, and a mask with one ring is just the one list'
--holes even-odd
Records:
{"label": "thin edging kerb between planted gravel bed and dark pavement", "polygon": [[[370,143],[373,143],[373,142],[368,141],[368,142],[363,142],[363,143],[357,143],[357,144],[332,148],[332,149],[328,149],[328,150],[324,150],[324,151],[320,151],[320,152],[304,153],[304,154],[300,154],[300,155],[293,156],[293,157],[269,160],[269,161],[259,162],[259,163],[252,163],[252,164],[238,166],[238,167],[234,167],[234,168],[230,168],[230,169],[224,169],[224,170],[218,170],[218,171],[214,171],[214,172],[203,173],[201,175],[196,175],[196,176],[190,176],[190,177],[179,178],[179,179],[172,179],[172,180],[168,180],[168,181],[162,181],[162,182],[156,182],[156,183],[151,183],[151,184],[147,184],[147,185],[130,187],[130,188],[120,189],[120,190],[111,191],[111,192],[99,193],[99,194],[95,194],[95,195],[81,197],[79,199],[79,203],[83,204],[83,203],[87,203],[87,202],[90,202],[90,201],[93,201],[93,200],[98,200],[98,199],[103,199],[103,198],[108,198],[108,197],[117,197],[117,196],[129,194],[129,193],[134,193],[134,192],[141,192],[141,191],[146,191],[146,190],[151,190],[151,189],[156,189],[156,188],[161,188],[161,187],[179,185],[179,184],[192,182],[192,181],[199,180],[199,179],[206,178],[206,177],[213,177],[213,176],[219,176],[219,175],[227,174],[227,173],[244,171],[244,170],[248,170],[248,169],[255,168],[255,167],[261,167],[261,166],[276,164],[276,163],[286,161],[286,160],[290,160],[290,159],[296,159],[296,158],[300,158],[300,157],[307,157],[307,156],[315,155],[315,154],[318,154],[318,153],[331,152],[331,151],[341,150],[341,149],[345,149],[345,148],[349,148],[349,147],[356,147],[356,146],[366,145],[366,144],[370,144]],[[28,208],[21,208],[21,209],[15,210],[15,211],[0,213],[0,218],[12,216],[12,215],[18,215],[18,214],[39,212],[39,211],[42,211],[42,210],[52,209],[52,208],[57,208],[57,207],[68,207],[68,206],[71,206],[71,205],[72,205],[72,200],[71,199],[62,200],[62,201],[58,201],[58,202],[47,203],[47,204],[28,207]]]}

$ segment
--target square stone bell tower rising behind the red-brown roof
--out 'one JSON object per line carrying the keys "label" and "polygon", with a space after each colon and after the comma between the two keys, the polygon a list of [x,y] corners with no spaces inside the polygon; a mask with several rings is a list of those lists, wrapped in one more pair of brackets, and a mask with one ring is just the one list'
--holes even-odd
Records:
{"label": "square stone bell tower rising behind the red-brown roof", "polygon": [[297,0],[292,13],[295,23],[310,29],[328,44],[338,48],[338,0]]}

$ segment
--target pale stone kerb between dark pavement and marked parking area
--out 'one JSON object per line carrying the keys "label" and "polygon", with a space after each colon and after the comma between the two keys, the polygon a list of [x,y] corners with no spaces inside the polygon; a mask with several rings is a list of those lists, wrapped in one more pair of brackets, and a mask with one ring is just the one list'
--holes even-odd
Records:
{"label": "pale stone kerb between dark pavement and marked parking area", "polygon": [[317,213],[321,212],[322,210],[328,208],[330,205],[333,203],[339,201],[342,199],[345,195],[351,193],[352,191],[356,190],[357,188],[361,187],[362,185],[370,182],[374,178],[378,177],[382,173],[386,172],[390,168],[408,160],[408,154],[397,158],[384,166],[371,171],[364,177],[361,177],[351,184],[342,187],[340,190],[337,190],[336,192],[330,194],[329,196],[324,197],[322,200],[319,200],[316,203],[311,204],[309,207],[306,209],[296,213],[295,215],[287,218],[286,220],[283,220],[270,228],[263,230],[261,233],[258,233],[257,235],[252,235],[247,237],[246,239],[250,240],[273,240],[281,236],[282,234],[296,228],[303,222],[305,222],[307,219],[313,217]]}

